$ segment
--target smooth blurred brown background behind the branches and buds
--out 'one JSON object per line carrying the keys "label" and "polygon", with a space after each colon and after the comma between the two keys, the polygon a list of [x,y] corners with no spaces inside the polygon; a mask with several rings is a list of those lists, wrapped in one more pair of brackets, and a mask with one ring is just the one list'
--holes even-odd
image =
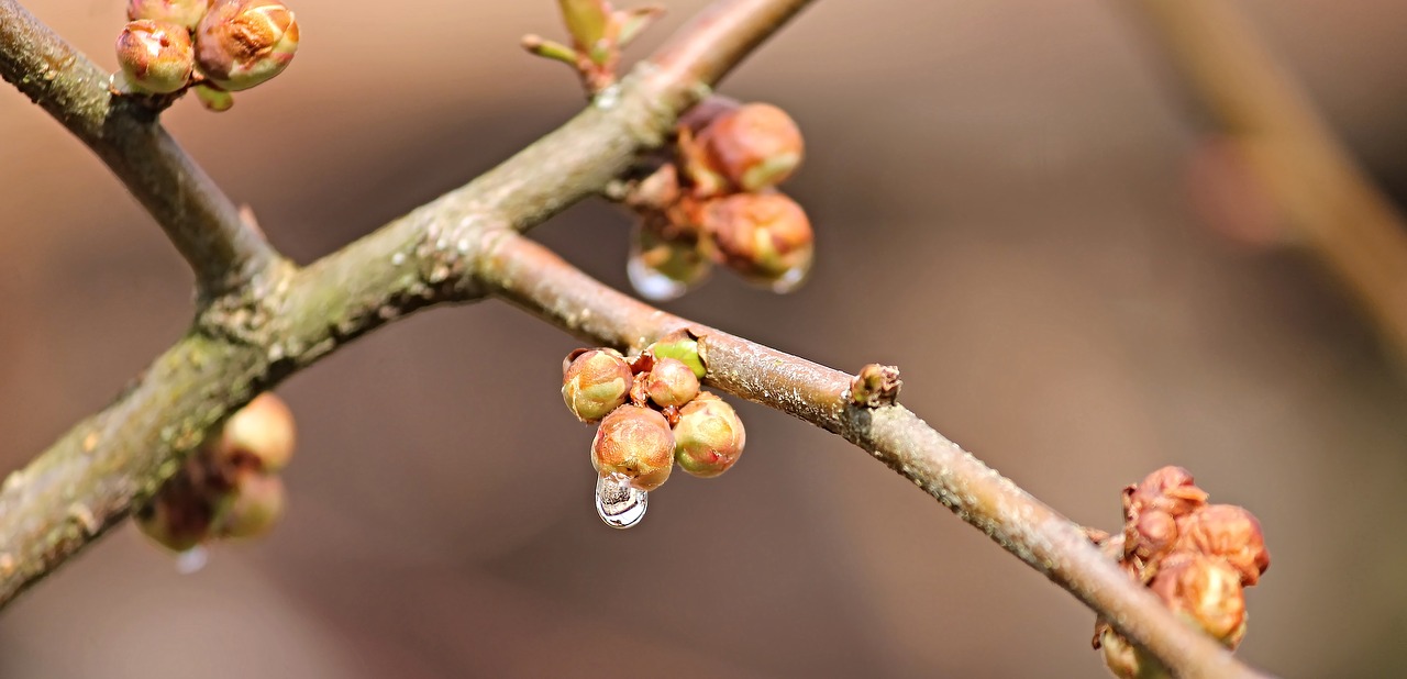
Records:
{"label": "smooth blurred brown background behind the branches and buds", "polygon": [[[24,4],[114,67],[121,1]],[[670,0],[632,53],[702,4]],[[1400,202],[1407,4],[1237,4]],[[228,114],[182,101],[165,121],[298,261],[581,105],[567,69],[516,46],[564,34],[547,0],[291,6],[287,73]],[[716,274],[667,308],[844,370],[900,366],[909,408],[1086,524],[1116,527],[1126,484],[1188,467],[1261,517],[1273,555],[1245,659],[1404,675],[1407,382],[1314,261],[1225,238],[1204,195],[1224,183],[1141,28],[1113,1],[817,3],[723,89],[808,135],[787,190],[816,224],[813,278],[775,297]],[[0,471],[191,315],[160,231],[6,90]],[[623,287],[628,232],[592,202],[533,235]],[[868,287],[844,280],[857,263]],[[294,375],[279,530],[179,575],[122,527],[0,616],[0,676],[1103,676],[1069,595],[764,408],[740,406],[730,474],[675,479],[635,530],[602,526],[591,429],[559,395],[574,346],[485,302]]]}

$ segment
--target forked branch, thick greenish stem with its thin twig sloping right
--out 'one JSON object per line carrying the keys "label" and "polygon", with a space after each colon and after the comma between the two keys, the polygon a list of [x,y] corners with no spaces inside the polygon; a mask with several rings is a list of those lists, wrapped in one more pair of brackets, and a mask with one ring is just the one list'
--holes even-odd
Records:
{"label": "forked branch, thick greenish stem with its thin twig sloping right", "polygon": [[[554,325],[615,346],[640,346],[667,330],[692,328],[702,335],[711,384],[871,451],[1182,676],[1256,676],[1124,576],[1075,524],[902,406],[853,406],[846,399],[850,375],[656,311],[516,233],[601,191],[640,150],[660,143],[678,112],[701,98],[713,79],[805,4],[718,3],[619,87],[483,177],[301,271],[270,266],[257,290],[215,298],[187,336],[111,406],[79,423],[0,486],[0,604],[151,498],[204,433],[256,392],[401,315],[491,291]],[[6,20],[0,67],[7,77],[21,73],[14,80],[28,87],[37,75],[55,73],[46,80],[75,83],[77,76],[66,69],[80,76],[91,70],[86,62],[45,66],[49,62],[27,56],[37,52],[21,44],[35,39],[25,35],[38,24],[24,15],[31,28],[15,28],[8,20],[17,14],[4,14],[8,10],[17,7],[0,0],[0,20]],[[61,52],[72,55],[68,48]],[[76,111],[82,107],[70,101],[75,93],[91,90],[84,87],[24,91],[51,111]],[[73,122],[80,136],[84,119]],[[155,125],[151,129],[165,135]],[[104,143],[118,156],[145,153],[139,145]],[[177,236],[190,233],[177,231]]]}

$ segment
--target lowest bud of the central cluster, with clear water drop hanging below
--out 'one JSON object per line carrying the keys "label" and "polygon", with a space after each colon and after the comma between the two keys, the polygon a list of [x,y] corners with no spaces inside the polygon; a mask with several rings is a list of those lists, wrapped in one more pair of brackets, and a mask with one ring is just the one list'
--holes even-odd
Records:
{"label": "lowest bud of the central cluster, with clear water drop hanging below", "polygon": [[616,408],[591,441],[591,465],[602,477],[623,474],[640,491],[653,491],[674,468],[674,434],[663,415],[636,405]]}

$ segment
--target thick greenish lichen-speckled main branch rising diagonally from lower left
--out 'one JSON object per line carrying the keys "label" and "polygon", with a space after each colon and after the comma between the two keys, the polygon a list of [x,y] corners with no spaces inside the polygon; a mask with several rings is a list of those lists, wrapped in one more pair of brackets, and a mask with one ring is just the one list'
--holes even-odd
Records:
{"label": "thick greenish lichen-speckled main branch rising diagonally from lower left", "polygon": [[[719,3],[712,21],[688,27],[670,42],[671,53],[685,56],[671,58],[668,67],[635,69],[566,125],[463,188],[307,269],[272,266],[256,290],[211,299],[187,336],[113,405],[0,486],[0,606],[151,498],[210,427],[259,391],[405,313],[476,299],[470,264],[485,242],[599,193],[643,149],[660,143],[678,114],[713,84],[681,79],[727,70],[723,62],[704,67],[689,59],[715,59],[708,49],[713,41],[757,45],[806,1]],[[98,77],[91,65],[62,42],[55,46],[58,38],[10,0],[0,0],[0,69],[7,77],[14,75],[23,91],[51,111],[75,117],[61,119],[76,134],[101,141],[101,125],[111,115],[107,98],[93,94],[100,83],[90,82]],[[49,84],[34,86],[35,80]],[[103,112],[84,112],[90,108]],[[120,139],[103,143],[114,153],[142,149]],[[187,236],[200,233],[179,231],[173,239]],[[203,249],[191,254],[200,261],[222,256]]]}

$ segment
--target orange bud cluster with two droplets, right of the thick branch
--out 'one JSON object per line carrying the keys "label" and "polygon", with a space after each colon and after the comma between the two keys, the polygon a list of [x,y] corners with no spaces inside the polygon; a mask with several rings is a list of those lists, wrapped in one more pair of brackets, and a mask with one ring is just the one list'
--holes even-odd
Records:
{"label": "orange bud cluster with two droplets, right of the thick branch", "polygon": [[777,190],[801,164],[796,122],[771,104],[715,97],[680,121],[673,150],[626,194],[640,219],[629,269],[636,290],[674,298],[713,264],[777,292],[799,287],[815,235],[806,211]]}

